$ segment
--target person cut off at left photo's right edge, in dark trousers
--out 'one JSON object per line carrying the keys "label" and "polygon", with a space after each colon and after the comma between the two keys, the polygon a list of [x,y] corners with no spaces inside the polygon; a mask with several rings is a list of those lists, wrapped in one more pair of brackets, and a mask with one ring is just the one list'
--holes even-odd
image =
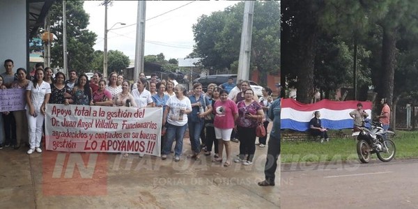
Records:
{"label": "person cut off at left photo's right edge, in dark trousers", "polygon": [[274,186],[277,160],[280,155],[280,84],[276,84],[276,92],[279,94],[270,106],[268,117],[273,121],[272,131],[268,139],[267,161],[265,162],[265,180],[258,183],[259,186]]}

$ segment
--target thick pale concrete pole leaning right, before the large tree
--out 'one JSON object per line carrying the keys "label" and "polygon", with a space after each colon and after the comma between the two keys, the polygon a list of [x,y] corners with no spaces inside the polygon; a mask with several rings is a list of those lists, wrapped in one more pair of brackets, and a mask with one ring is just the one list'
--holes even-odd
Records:
{"label": "thick pale concrete pole leaning right, before the large tree", "polygon": [[238,80],[249,79],[249,60],[251,58],[251,36],[255,1],[245,1],[244,21],[242,22],[240,58],[238,59]]}

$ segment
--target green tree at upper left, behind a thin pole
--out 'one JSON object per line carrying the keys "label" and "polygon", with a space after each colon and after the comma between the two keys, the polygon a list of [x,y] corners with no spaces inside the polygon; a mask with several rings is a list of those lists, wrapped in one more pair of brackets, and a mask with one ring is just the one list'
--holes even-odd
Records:
{"label": "green tree at upper left, behind a thin pole", "polygon": [[[93,45],[97,35],[88,31],[89,16],[84,11],[84,1],[66,2],[67,22],[67,59],[68,69],[78,72],[88,72],[93,61]],[[62,1],[56,1],[49,10],[51,31],[58,38],[51,47],[51,63],[53,66],[63,66],[63,16]]]}

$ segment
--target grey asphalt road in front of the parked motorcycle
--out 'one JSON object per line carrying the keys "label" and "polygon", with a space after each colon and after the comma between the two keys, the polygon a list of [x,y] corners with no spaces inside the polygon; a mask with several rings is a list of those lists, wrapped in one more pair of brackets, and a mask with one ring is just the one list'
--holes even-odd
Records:
{"label": "grey asphalt road in front of the parked motorcycle", "polygon": [[418,160],[282,164],[281,208],[418,208]]}

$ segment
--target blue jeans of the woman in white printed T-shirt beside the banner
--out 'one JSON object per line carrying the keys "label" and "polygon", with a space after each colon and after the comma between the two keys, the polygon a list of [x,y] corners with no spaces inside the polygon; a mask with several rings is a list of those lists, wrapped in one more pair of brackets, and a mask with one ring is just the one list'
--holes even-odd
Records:
{"label": "blue jeans of the woman in white printed T-shirt beside the banner", "polygon": [[173,141],[176,139],[176,147],[174,148],[174,153],[176,156],[180,157],[183,151],[183,137],[185,137],[187,124],[183,126],[177,126],[166,123],[166,126],[166,141],[164,143],[164,148],[162,149],[162,154],[168,155],[170,153],[171,146],[173,146]]}

